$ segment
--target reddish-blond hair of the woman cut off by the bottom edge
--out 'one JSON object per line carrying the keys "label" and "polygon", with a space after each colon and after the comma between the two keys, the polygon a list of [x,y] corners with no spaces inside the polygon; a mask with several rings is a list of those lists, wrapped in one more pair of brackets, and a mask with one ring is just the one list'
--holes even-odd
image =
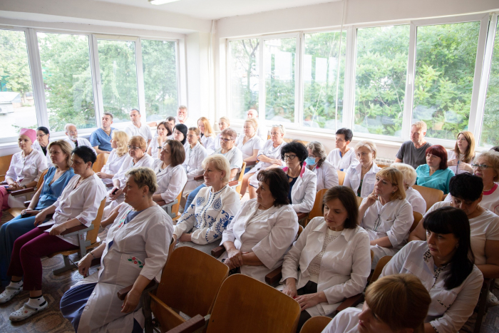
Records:
{"label": "reddish-blond hair of the woman cut off by the bottom edge", "polygon": [[365,299],[369,309],[393,331],[424,332],[431,297],[416,275],[381,277],[367,287]]}

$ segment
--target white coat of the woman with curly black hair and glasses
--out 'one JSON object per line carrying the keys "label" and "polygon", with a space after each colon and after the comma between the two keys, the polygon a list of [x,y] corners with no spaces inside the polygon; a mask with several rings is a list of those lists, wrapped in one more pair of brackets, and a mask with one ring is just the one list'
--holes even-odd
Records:
{"label": "white coat of the woman with curly black hair and glasses", "polygon": [[[282,168],[286,173],[288,167]],[[292,208],[295,212],[309,212],[314,207],[317,193],[317,175],[305,165],[302,166],[297,181],[291,190]]]}

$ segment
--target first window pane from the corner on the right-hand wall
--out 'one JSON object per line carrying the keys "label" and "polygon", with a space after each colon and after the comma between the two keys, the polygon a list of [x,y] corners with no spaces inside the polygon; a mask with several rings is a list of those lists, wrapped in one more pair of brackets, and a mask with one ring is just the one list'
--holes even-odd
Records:
{"label": "first window pane from the corner on the right-hand wall", "polygon": [[232,117],[245,119],[258,110],[259,39],[230,41],[230,109]]}

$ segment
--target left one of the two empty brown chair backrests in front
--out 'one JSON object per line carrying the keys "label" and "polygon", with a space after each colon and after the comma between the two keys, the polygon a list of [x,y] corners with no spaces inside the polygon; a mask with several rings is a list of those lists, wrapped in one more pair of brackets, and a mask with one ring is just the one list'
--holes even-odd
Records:
{"label": "left one of the two empty brown chair backrests in front", "polygon": [[178,247],[163,268],[156,297],[190,317],[204,317],[228,275],[229,267],[214,257],[192,247]]}

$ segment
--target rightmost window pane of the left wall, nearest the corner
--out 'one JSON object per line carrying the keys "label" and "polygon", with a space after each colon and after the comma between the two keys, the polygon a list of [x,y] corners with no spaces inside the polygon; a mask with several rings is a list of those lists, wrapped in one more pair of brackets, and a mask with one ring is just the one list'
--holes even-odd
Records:
{"label": "rightmost window pane of the left wall, nearest the corner", "polygon": [[147,121],[175,116],[178,108],[175,41],[140,40]]}

